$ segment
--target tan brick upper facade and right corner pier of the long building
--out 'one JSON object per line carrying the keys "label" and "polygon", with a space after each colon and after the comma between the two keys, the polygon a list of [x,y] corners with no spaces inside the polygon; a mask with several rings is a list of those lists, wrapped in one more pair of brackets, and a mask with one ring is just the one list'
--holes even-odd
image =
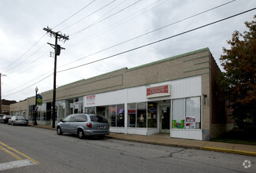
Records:
{"label": "tan brick upper facade and right corner pier of the long building", "polygon": [[[206,98],[206,105],[203,104],[202,98],[203,138],[209,138],[211,123],[210,69],[212,63],[210,56],[210,50],[206,48],[135,68],[121,68],[120,70],[98,75],[91,79],[83,79],[76,83],[58,87],[56,100],[65,100],[88,94],[99,94],[111,90],[120,90],[201,75],[202,94],[207,94],[208,96]],[[53,91],[43,92],[42,96],[44,103],[50,102],[52,101]],[[35,105],[35,97],[28,98],[28,105]]]}

